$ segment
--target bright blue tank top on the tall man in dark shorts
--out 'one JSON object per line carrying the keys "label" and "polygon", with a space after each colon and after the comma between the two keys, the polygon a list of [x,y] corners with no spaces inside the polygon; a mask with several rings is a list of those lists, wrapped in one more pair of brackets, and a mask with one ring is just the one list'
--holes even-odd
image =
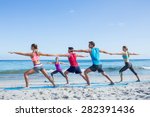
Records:
{"label": "bright blue tank top on the tall man in dark shorts", "polygon": [[101,64],[99,48],[92,48],[90,55],[91,55],[93,65],[100,65]]}

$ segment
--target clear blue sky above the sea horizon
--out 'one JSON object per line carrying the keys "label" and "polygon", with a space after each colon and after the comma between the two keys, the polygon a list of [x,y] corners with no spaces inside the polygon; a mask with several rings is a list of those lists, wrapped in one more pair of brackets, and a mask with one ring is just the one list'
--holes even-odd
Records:
{"label": "clear blue sky above the sea horizon", "polygon": [[101,50],[126,45],[140,54],[133,59],[149,59],[149,6],[149,0],[0,0],[0,59],[27,59],[8,52],[30,52],[32,43],[63,54],[69,46],[88,49],[91,40]]}

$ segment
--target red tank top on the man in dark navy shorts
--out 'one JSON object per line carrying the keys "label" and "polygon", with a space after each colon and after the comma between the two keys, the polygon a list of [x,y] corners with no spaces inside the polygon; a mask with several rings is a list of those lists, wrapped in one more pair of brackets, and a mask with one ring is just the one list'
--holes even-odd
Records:
{"label": "red tank top on the man in dark navy shorts", "polygon": [[75,53],[70,53],[70,56],[69,56],[68,59],[69,59],[70,65],[72,67],[77,67],[78,66],[77,57],[76,57]]}

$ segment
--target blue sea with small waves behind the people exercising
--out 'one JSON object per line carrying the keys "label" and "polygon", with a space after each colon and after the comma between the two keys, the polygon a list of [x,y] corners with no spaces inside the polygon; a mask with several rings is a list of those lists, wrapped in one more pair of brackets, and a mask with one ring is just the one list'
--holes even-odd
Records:
{"label": "blue sea with small waves behind the people exercising", "polygon": [[[44,65],[44,68],[47,70],[48,74],[55,70],[55,66],[47,64],[48,62],[54,62],[53,60],[41,60],[41,63]],[[67,63],[68,65],[61,65],[63,71],[67,70],[70,66],[68,60],[60,60],[60,62]],[[86,68],[92,65],[91,60],[78,60],[79,65],[84,71]],[[123,60],[102,60],[103,69],[110,76],[119,76],[119,70],[124,66]],[[136,59],[130,60],[135,71],[139,75],[150,75],[150,59]],[[33,68],[33,63],[31,60],[0,60],[0,83],[3,80],[24,80],[23,73],[29,69]],[[124,75],[132,75],[133,73],[130,70],[124,72]],[[99,77],[98,72],[90,73],[90,77]],[[58,81],[61,81],[62,76],[56,74],[54,76]],[[69,78],[79,77],[76,74],[69,74]],[[31,79],[46,80],[41,73],[37,73],[30,76]],[[64,80],[64,79],[63,79]]]}

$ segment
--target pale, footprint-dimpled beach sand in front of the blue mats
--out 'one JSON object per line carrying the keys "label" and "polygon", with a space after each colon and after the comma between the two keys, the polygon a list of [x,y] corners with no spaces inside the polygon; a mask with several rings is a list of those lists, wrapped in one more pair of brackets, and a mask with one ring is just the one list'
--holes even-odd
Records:
{"label": "pale, footprint-dimpled beach sand in front of the blue mats", "polygon": [[[5,88],[8,87],[5,82],[0,88],[0,100],[150,100],[150,77],[140,77],[141,82],[137,83],[133,82],[134,80],[136,81],[134,76],[126,76],[124,82],[132,79],[132,82],[130,81],[127,85],[99,87],[93,87],[92,84],[90,87],[63,86],[57,88],[4,90],[4,86]],[[116,76],[112,78],[119,79]],[[106,81],[104,82],[106,83]],[[12,82],[11,84],[13,84]],[[11,87],[17,87],[18,83],[15,82]],[[45,85],[47,84],[45,83]]]}

